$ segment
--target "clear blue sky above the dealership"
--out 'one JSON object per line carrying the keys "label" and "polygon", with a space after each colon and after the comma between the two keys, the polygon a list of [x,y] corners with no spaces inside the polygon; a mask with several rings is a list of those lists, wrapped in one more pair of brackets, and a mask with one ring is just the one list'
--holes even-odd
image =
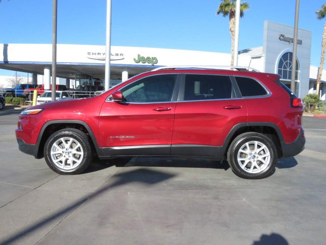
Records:
{"label": "clear blue sky above the dealership", "polygon": [[[51,43],[51,0],[0,0],[0,43]],[[220,0],[112,0],[112,45],[230,53],[228,18]],[[262,46],[263,21],[293,26],[295,0],[246,0],[239,50]],[[312,31],[311,63],[318,66],[326,1],[300,1],[299,28]],[[105,45],[106,0],[58,0],[58,43]],[[0,75],[12,71],[0,70]]]}

